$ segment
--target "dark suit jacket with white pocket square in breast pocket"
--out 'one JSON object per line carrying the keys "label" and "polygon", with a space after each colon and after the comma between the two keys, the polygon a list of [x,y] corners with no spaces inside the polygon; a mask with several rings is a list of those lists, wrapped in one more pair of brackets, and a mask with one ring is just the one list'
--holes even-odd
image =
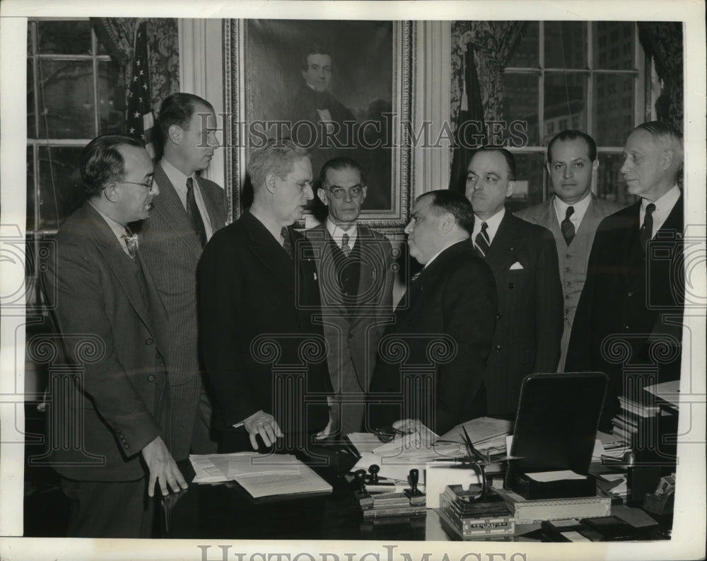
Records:
{"label": "dark suit jacket with white pocket square in breast pocket", "polygon": [[555,241],[542,226],[506,211],[486,262],[498,291],[486,367],[489,413],[514,415],[522,379],[556,371],[560,358],[563,298]]}

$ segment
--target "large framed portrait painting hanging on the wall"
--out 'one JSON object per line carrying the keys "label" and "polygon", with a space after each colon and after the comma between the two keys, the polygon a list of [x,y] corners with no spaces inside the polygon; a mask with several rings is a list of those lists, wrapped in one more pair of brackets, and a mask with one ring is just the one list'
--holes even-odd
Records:
{"label": "large framed portrait painting hanging on the wall", "polygon": [[[226,41],[224,139],[233,219],[250,206],[252,150],[291,138],[308,149],[312,173],[332,158],[363,169],[360,219],[399,230],[407,221],[414,64],[411,24],[400,21],[230,20]],[[312,202],[305,215],[322,219]]]}

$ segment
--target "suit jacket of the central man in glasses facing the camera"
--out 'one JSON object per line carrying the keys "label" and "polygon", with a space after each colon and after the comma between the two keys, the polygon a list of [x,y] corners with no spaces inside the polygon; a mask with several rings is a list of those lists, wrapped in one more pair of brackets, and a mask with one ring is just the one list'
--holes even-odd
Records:
{"label": "suit jacket of the central man in glasses facing the camera", "polygon": [[378,342],[392,320],[392,245],[382,234],[358,225],[356,245],[361,244],[361,274],[354,311],[341,295],[332,253],[332,236],[324,223],[305,231],[315,249],[324,335],[329,345],[327,362],[334,392],[341,392],[344,376],[358,380],[368,391],[375,368]]}

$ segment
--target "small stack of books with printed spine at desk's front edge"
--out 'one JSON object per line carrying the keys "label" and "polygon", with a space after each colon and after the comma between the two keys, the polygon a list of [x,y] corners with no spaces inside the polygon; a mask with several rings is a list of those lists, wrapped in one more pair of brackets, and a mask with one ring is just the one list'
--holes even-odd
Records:
{"label": "small stack of books with printed spine at desk's front edge", "polygon": [[445,531],[462,540],[513,536],[515,520],[506,502],[493,490],[483,502],[477,495],[461,485],[448,485],[440,493],[439,514]]}

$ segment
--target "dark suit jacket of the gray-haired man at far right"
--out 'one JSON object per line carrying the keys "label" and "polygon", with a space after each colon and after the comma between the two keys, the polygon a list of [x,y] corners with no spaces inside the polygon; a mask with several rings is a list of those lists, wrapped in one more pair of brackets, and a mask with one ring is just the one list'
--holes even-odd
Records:
{"label": "dark suit jacket of the gray-haired man at far right", "polygon": [[655,369],[660,382],[680,376],[682,205],[681,195],[650,242],[648,259],[638,238],[641,201],[607,216],[597,229],[566,371],[598,370],[609,375],[604,425],[618,408],[617,395],[624,395],[626,365]]}

